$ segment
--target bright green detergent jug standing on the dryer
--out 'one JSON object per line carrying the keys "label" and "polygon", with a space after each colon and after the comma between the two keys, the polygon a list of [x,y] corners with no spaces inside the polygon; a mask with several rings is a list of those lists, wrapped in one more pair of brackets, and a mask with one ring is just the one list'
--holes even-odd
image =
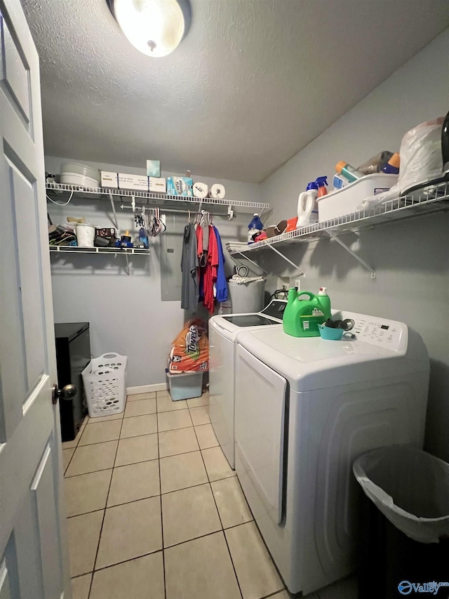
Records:
{"label": "bright green detergent jug standing on the dryer", "polygon": [[[301,299],[307,296],[307,299]],[[326,287],[320,287],[319,295],[310,291],[288,290],[288,301],[283,313],[284,333],[293,337],[319,337],[319,325],[330,318],[330,299]]]}

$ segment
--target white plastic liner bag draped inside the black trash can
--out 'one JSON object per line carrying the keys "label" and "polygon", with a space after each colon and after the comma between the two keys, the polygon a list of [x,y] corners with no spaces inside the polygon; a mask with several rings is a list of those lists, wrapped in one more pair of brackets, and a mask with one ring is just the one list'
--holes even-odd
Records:
{"label": "white plastic liner bag draped inside the black trash can", "polygon": [[449,537],[449,464],[409,445],[360,456],[352,466],[366,496],[396,528],[420,543]]}

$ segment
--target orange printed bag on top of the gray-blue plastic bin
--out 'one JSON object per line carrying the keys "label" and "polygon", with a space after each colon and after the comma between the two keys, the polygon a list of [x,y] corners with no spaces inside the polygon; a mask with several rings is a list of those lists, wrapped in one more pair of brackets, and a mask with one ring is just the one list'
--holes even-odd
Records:
{"label": "orange printed bag on top of the gray-blue plastic bin", "polygon": [[168,370],[170,374],[209,369],[209,341],[206,324],[189,320],[171,344]]}

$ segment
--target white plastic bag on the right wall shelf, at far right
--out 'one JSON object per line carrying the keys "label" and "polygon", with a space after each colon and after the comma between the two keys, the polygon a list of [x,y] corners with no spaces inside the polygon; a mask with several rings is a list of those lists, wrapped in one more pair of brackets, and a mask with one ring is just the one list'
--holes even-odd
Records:
{"label": "white plastic bag on the right wall shelf, at far right", "polygon": [[411,187],[425,185],[427,181],[442,176],[441,129],[444,117],[426,121],[410,129],[401,141],[401,168],[398,183],[382,194],[367,197],[358,210],[374,208],[403,195]]}

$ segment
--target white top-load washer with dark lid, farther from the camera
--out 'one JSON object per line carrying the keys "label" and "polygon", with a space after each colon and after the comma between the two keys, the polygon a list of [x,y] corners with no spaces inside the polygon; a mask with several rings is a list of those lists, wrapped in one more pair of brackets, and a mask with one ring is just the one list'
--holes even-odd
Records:
{"label": "white top-load washer with dark lid, farther from the camera", "polygon": [[213,316],[209,320],[209,413],[217,440],[234,468],[234,364],[236,338],[248,329],[282,323],[286,300],[275,299],[261,312]]}

